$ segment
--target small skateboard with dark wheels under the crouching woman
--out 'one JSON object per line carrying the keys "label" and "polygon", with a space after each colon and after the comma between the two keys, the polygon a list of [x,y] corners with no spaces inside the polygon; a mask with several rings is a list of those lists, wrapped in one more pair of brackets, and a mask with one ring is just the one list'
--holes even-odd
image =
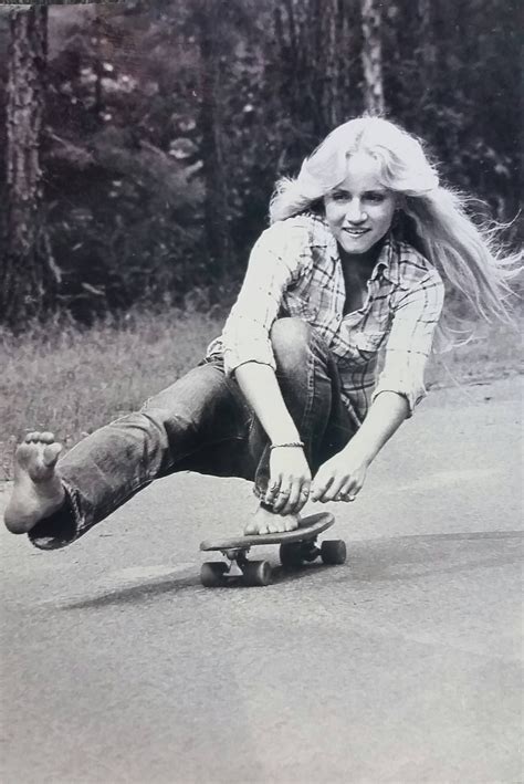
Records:
{"label": "small skateboard with dark wheels under the crouching woman", "polygon": [[207,588],[241,582],[244,585],[269,585],[271,565],[268,561],[249,561],[251,547],[280,544],[280,560],[285,569],[297,569],[305,562],[321,557],[325,564],[343,564],[346,561],[346,545],[343,540],[324,541],[319,546],[316,537],[331,527],[335,518],[329,512],[321,512],[303,518],[295,531],[276,534],[253,534],[232,539],[206,540],[200,550],[220,552],[227,561],[208,561],[200,569],[200,581]]}

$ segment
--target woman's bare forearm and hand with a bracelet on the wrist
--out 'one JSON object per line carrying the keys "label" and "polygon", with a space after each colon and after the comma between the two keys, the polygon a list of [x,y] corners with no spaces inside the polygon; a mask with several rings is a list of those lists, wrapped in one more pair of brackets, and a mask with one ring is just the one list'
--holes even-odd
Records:
{"label": "woman's bare forearm and hand with a bracelet on the wrist", "polygon": [[[272,367],[247,362],[235,369],[234,376],[272,443],[293,443],[301,440]],[[308,491],[310,483],[311,472],[303,449],[293,447],[271,451],[265,500],[272,503],[275,512],[298,513],[307,500],[307,494],[301,494],[301,490]],[[279,496],[279,490],[289,490],[289,496]]]}

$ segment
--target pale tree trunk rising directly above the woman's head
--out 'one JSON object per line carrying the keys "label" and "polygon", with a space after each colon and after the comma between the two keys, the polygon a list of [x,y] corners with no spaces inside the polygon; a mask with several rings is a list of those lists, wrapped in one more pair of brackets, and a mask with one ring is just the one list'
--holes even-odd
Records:
{"label": "pale tree trunk rising directly above the woman's head", "polygon": [[361,0],[364,106],[369,114],[382,114],[382,48],[379,0]]}

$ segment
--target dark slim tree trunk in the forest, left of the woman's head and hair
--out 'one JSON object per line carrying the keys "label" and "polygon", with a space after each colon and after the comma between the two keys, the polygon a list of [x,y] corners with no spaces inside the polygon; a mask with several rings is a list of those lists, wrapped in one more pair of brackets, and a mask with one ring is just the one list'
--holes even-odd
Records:
{"label": "dark slim tree trunk in the forest, left of the woman's head and hair", "polygon": [[224,170],[221,113],[221,63],[217,42],[220,40],[220,2],[201,0],[197,8],[201,63],[201,111],[203,177],[206,180],[205,231],[209,269],[220,278],[232,268],[229,231],[228,188]]}

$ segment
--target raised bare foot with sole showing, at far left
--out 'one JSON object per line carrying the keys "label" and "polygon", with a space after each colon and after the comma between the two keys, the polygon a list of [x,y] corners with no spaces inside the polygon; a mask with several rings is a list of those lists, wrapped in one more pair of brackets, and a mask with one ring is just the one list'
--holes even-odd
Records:
{"label": "raised bare foot with sole showing, at far left", "polygon": [[30,432],[18,447],[13,492],[3,515],[11,533],[27,533],[61,508],[65,491],[55,471],[61,451],[51,432]]}

